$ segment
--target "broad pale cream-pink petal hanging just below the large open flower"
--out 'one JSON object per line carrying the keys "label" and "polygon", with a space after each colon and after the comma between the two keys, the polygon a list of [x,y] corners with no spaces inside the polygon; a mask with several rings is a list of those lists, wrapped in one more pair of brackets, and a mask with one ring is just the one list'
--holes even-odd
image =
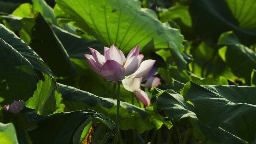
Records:
{"label": "broad pale cream-pink petal hanging just below the large open flower", "polygon": [[125,78],[122,84],[127,91],[137,92],[140,88],[141,78]]}

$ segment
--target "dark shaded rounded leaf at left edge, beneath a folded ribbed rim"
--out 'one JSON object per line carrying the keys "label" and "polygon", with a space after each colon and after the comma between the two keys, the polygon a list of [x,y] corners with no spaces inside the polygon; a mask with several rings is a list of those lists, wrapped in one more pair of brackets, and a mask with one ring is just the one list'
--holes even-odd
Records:
{"label": "dark shaded rounded leaf at left edge, beneath a folded ribbed rim", "polygon": [[33,65],[26,59],[26,55],[22,51],[17,51],[19,49],[13,48],[11,43],[7,43],[10,42],[8,38],[18,40],[14,36],[12,32],[0,24],[0,97],[4,98],[1,101],[2,106],[12,103],[13,100],[26,101],[33,95],[38,82]]}

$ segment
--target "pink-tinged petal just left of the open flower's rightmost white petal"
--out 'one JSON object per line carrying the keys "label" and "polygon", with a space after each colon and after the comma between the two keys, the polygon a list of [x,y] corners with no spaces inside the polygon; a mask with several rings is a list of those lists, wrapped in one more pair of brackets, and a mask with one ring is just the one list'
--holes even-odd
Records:
{"label": "pink-tinged petal just left of the open flower's rightmost white petal", "polygon": [[132,58],[127,59],[124,65],[125,76],[129,76],[133,74],[138,69],[138,67],[140,67],[140,63],[143,58],[144,58],[144,55],[140,54],[137,56],[132,56]]}

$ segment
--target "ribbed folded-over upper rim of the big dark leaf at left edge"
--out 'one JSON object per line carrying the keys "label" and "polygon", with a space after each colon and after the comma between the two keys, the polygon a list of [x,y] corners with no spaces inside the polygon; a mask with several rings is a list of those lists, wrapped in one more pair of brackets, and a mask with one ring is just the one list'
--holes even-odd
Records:
{"label": "ribbed folded-over upper rim of the big dark leaf at left edge", "polygon": [[[16,51],[18,51],[22,56],[24,56],[33,66],[37,75],[42,75],[41,72],[48,74],[54,79],[54,74],[48,67],[48,65],[31,49],[22,39],[19,39],[14,33],[0,24],[0,38],[3,39],[6,43],[12,46]],[[40,77],[40,76],[39,76]],[[32,96],[32,95],[31,95]]]}

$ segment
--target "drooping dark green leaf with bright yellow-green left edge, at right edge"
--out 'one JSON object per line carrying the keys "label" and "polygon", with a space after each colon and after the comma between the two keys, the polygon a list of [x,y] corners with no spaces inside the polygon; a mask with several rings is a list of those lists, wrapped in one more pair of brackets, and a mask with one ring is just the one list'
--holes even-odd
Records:
{"label": "drooping dark green leaf with bright yellow-green left edge, at right edge", "polygon": [[250,85],[250,75],[252,70],[256,69],[256,53],[242,45],[232,32],[223,33],[218,44],[222,47],[219,49],[219,55],[223,61],[236,76],[244,78]]}

